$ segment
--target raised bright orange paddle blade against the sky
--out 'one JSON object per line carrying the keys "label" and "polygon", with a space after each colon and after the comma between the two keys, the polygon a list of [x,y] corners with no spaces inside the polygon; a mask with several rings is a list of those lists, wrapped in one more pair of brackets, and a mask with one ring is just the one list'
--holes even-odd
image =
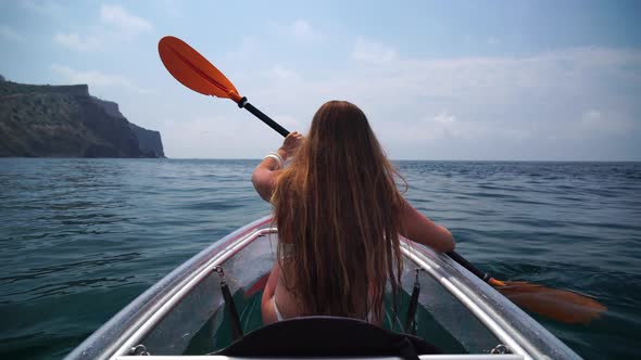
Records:
{"label": "raised bright orange paddle blade against the sky", "polygon": [[227,98],[238,103],[241,97],[231,81],[187,42],[166,36],[158,43],[161,60],[178,82],[205,95]]}

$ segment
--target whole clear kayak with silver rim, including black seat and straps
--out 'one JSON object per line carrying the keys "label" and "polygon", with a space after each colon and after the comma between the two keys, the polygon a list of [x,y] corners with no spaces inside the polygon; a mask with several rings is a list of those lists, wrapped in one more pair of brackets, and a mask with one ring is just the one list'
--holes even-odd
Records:
{"label": "whole clear kayak with silver rim, including black seat and straps", "polygon": [[[382,327],[331,317],[264,326],[261,296],[277,236],[266,216],[213,243],[138,296],[66,359],[580,359],[450,257],[407,240],[401,242],[402,288],[386,295]],[[417,357],[391,351],[388,344],[394,349],[404,344]]]}

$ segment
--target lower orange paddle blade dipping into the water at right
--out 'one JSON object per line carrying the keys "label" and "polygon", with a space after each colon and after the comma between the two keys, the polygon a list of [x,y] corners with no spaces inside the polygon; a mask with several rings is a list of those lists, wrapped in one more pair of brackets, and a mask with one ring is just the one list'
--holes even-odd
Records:
{"label": "lower orange paddle blade dipping into the water at right", "polygon": [[569,324],[588,324],[607,308],[588,296],[520,281],[495,288],[512,303],[540,316]]}

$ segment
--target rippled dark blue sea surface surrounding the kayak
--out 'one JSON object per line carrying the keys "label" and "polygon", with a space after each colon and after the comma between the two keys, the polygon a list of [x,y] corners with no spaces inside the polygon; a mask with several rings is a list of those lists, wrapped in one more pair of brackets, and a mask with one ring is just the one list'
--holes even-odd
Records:
{"label": "rippled dark blue sea surface surrounding the kayak", "polygon": [[[187,258],[269,211],[257,160],[0,159],[0,358],[61,358]],[[497,278],[591,295],[535,318],[589,359],[641,356],[641,164],[399,162],[406,197]]]}

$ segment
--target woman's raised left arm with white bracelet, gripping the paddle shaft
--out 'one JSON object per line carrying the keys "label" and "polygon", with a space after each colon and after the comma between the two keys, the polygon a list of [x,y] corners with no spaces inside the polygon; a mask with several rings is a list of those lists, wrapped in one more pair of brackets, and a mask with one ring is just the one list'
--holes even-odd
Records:
{"label": "woman's raised left arm with white bracelet, gripping the paddle shaft", "polygon": [[[282,146],[278,149],[278,155],[280,155],[284,162],[293,154],[302,138],[303,136],[298,131],[290,132],[287,138],[285,138]],[[251,176],[254,189],[266,202],[269,202],[269,198],[272,198],[272,192],[274,191],[274,185],[276,185],[276,179],[278,178],[278,173],[280,173],[281,166],[282,164],[279,164],[277,159],[265,157],[261,164],[256,166]]]}

